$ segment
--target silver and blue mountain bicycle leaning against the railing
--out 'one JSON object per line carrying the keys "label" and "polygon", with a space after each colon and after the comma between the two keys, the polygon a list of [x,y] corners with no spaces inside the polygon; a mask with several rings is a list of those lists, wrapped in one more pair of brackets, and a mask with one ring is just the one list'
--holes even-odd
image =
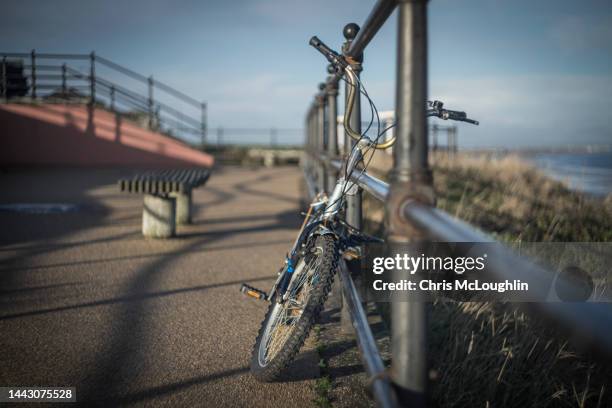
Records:
{"label": "silver and blue mountain bicycle leaning against the railing", "polygon": [[[344,172],[340,172],[331,195],[319,193],[308,206],[297,238],[278,272],[272,289],[266,293],[246,284],[241,287],[241,291],[246,295],[270,302],[255,341],[250,365],[251,373],[260,381],[279,379],[304,344],[331,290],[340,256],[358,257],[359,246],[382,242],[381,239],[347,224],[343,219],[343,211],[345,197],[357,190],[357,185],[351,181],[353,172],[358,169],[360,163],[363,165],[358,171],[360,174],[365,172],[369,163],[364,163],[366,154],[370,150],[373,154],[375,150],[391,147],[395,143],[395,136],[379,141],[389,127],[382,132],[379,130],[377,137],[372,140],[365,134],[367,130],[359,133],[350,127],[349,118],[357,91],[368,98],[373,112],[376,108],[343,56],[331,50],[317,37],[310,40],[310,45],[321,52],[335,72],[345,77],[350,85],[344,127],[356,143],[348,159],[343,161],[341,168]],[[468,119],[465,112],[444,109],[442,102],[428,102],[428,106],[427,116],[478,124],[477,121]],[[370,125],[373,117],[374,114]]]}

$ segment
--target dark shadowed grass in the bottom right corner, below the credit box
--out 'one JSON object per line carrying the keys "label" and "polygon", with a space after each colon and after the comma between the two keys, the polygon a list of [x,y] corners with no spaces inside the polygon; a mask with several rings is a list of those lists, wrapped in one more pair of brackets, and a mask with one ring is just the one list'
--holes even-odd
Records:
{"label": "dark shadowed grass in the bottom right corner, below the credit box", "polygon": [[440,302],[431,322],[439,406],[611,406],[610,368],[514,306]]}

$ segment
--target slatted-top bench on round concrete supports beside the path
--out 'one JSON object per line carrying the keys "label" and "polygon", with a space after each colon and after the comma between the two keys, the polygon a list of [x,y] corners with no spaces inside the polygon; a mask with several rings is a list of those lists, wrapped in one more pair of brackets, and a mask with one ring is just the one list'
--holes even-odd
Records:
{"label": "slatted-top bench on round concrete supports beside the path", "polygon": [[206,183],[210,170],[172,169],[146,171],[119,180],[123,193],[144,194],[142,234],[170,238],[176,225],[191,223],[191,190]]}

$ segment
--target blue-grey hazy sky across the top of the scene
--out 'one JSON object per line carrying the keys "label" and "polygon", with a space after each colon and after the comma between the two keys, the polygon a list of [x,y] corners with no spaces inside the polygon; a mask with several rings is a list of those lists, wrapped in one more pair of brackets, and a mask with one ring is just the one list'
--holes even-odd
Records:
{"label": "blue-grey hazy sky across the top of the scene", "polygon": [[[95,50],[207,101],[211,127],[301,128],[326,76],[308,40],[339,49],[342,27],[373,5],[4,0],[0,51]],[[429,97],[481,122],[458,124],[461,146],[612,144],[612,2],[431,0],[428,11]],[[365,52],[382,111],[395,105],[396,20]]]}

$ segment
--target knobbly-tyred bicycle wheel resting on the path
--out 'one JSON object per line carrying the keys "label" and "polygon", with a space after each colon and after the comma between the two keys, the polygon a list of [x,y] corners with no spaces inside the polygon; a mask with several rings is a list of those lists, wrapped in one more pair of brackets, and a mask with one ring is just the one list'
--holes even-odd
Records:
{"label": "knobbly-tyred bicycle wheel resting on the path", "polygon": [[296,262],[282,303],[271,299],[259,329],[251,372],[259,381],[274,381],[300,350],[331,289],[338,266],[336,240],[317,236]]}

